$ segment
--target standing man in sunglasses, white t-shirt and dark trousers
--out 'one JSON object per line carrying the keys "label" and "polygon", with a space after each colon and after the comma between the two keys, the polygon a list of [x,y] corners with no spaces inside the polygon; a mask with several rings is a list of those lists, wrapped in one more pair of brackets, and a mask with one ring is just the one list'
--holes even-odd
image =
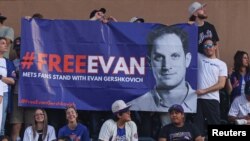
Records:
{"label": "standing man in sunglasses, white t-shirt and dark trousers", "polygon": [[227,77],[227,65],[216,58],[216,41],[212,38],[203,40],[203,54],[198,54],[197,114],[194,123],[205,135],[207,124],[220,124],[220,95]]}

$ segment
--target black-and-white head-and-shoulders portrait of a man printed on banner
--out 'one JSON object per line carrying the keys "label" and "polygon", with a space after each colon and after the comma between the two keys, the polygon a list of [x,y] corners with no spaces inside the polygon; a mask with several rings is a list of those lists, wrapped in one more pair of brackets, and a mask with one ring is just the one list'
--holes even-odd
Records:
{"label": "black-and-white head-and-shoulders portrait of a man printed on banner", "polygon": [[173,26],[160,26],[148,36],[148,56],[156,84],[153,90],[132,100],[131,110],[167,112],[180,104],[184,112],[195,113],[197,95],[185,81],[191,62],[188,35]]}

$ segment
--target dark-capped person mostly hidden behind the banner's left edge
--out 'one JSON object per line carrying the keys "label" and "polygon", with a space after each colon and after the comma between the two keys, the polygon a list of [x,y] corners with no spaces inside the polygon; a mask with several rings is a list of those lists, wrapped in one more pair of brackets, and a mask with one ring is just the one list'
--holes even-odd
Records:
{"label": "dark-capped person mostly hidden behind the banner's left edge", "polygon": [[12,124],[11,139],[13,141],[21,141],[20,131],[22,128],[22,123],[25,127],[32,124],[32,115],[34,109],[24,108],[18,106],[18,86],[19,86],[19,67],[20,67],[20,49],[21,49],[21,38],[17,37],[13,42],[13,49],[16,51],[17,58],[13,60],[16,68],[16,83],[13,90],[12,96],[12,108],[10,123]]}

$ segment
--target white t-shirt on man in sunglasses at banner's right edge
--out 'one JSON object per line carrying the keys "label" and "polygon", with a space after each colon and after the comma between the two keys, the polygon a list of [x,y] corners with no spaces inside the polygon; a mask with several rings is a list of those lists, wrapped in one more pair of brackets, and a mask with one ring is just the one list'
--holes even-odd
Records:
{"label": "white t-shirt on man in sunglasses at banner's right edge", "polygon": [[[206,89],[215,85],[219,76],[227,76],[227,65],[223,61],[214,58],[208,58],[198,54],[198,89]],[[214,91],[201,95],[200,99],[215,99],[220,101],[219,91]]]}

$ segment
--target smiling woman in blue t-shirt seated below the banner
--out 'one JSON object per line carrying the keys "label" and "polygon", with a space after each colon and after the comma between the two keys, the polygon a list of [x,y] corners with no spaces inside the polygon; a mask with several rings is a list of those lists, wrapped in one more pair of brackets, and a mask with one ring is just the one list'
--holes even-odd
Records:
{"label": "smiling woman in blue t-shirt seated below the banner", "polygon": [[59,129],[58,137],[68,136],[72,141],[89,141],[88,128],[77,122],[78,114],[74,106],[66,108],[68,124]]}

